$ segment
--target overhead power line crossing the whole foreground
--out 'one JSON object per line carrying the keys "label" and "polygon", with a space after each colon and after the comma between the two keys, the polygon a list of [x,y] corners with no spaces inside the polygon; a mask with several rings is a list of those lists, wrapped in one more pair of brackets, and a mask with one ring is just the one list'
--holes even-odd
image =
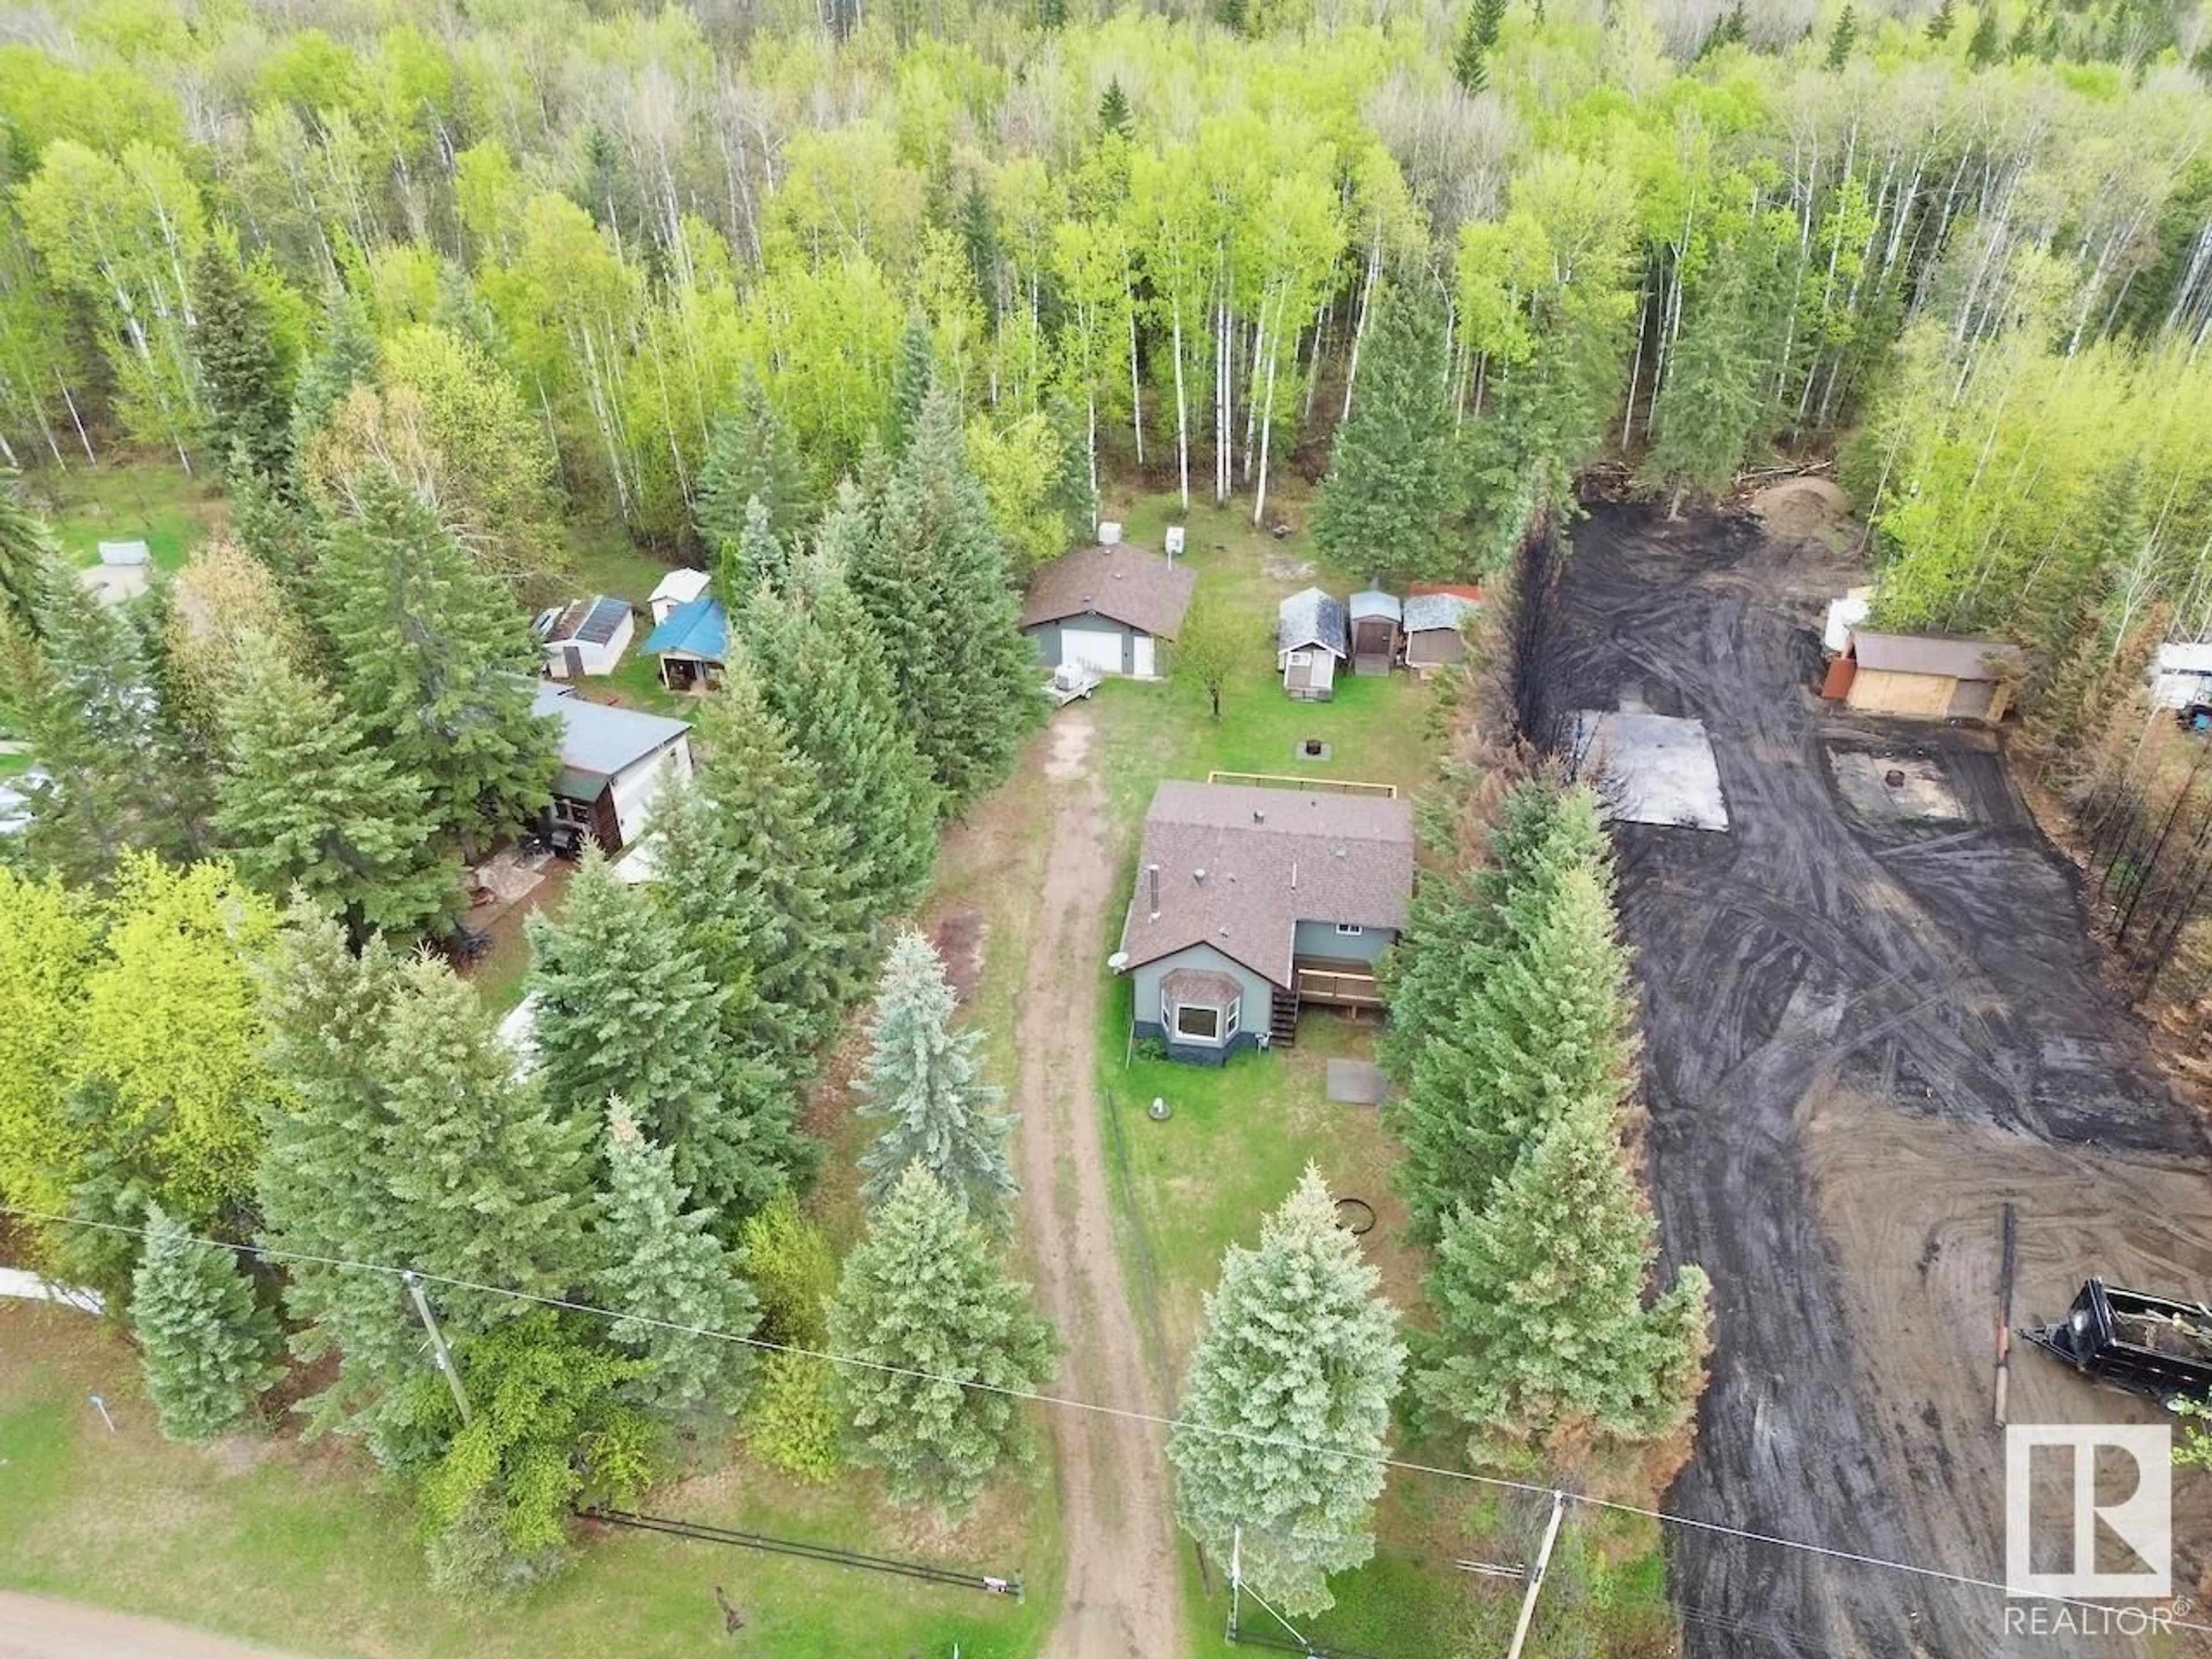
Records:
{"label": "overhead power line crossing the whole foreground", "polygon": [[[131,1234],[135,1239],[150,1239],[153,1237],[146,1228],[124,1225],[122,1221],[93,1221],[88,1217],[53,1214],[53,1212],[46,1212],[46,1210],[24,1210],[24,1208],[11,1206],[11,1203],[0,1206],[0,1214],[18,1217],[22,1221],[53,1221],[53,1223],[66,1225],[66,1228],[91,1228],[91,1230],[97,1230],[97,1232],[122,1232],[122,1234]],[[588,1314],[593,1318],[608,1318],[608,1321],[624,1321],[624,1323],[630,1323],[630,1325],[646,1325],[646,1327],[670,1332],[670,1334],[677,1334],[677,1336],[706,1336],[706,1338],[712,1338],[712,1340],[719,1340],[719,1343],[737,1343],[741,1347],[752,1347],[752,1349],[759,1349],[759,1352],[765,1352],[765,1354],[796,1354],[801,1358],[825,1360],[830,1365],[847,1365],[847,1367],[863,1369],[863,1371],[878,1371],[883,1376],[900,1376],[900,1378],[909,1378],[914,1383],[951,1383],[953,1387],[960,1387],[960,1389],[978,1389],[982,1394],[998,1394],[998,1396],[1004,1396],[1009,1400],[1022,1400],[1026,1405],[1040,1405],[1040,1407],[1048,1407],[1048,1409],[1055,1409],[1055,1411],[1088,1411],[1093,1416],[1117,1418],[1121,1422],[1141,1422],[1146,1427],[1168,1429],[1168,1431],[1183,1429],[1183,1431],[1190,1431],[1190,1433],[1214,1436],[1217,1440],[1237,1440],[1237,1442],[1243,1442],[1243,1444],[1267,1447],[1267,1449],[1274,1449],[1274,1451],[1303,1451],[1303,1453],[1314,1453],[1314,1455],[1323,1455],[1323,1458],[1349,1458],[1354,1462],[1371,1462],[1371,1464],[1376,1464],[1380,1469],[1394,1469],[1394,1471],[1405,1473],[1405,1475],[1436,1475],[1440,1480],[1460,1480],[1460,1482],[1467,1482],[1467,1484],[1473,1484],[1473,1486],[1489,1486],[1493,1491],[1531,1493],[1531,1495],[1537,1495],[1537,1498],[1553,1498],[1555,1495],[1553,1486],[1542,1486],[1542,1484],[1528,1482],[1528,1480],[1506,1480],[1504,1475],[1478,1475],[1471,1469],[1444,1469],[1442,1464],[1413,1462],[1409,1458],[1387,1458],[1387,1455],[1380,1455],[1380,1453],[1354,1451],[1354,1449],[1347,1449],[1347,1447],[1318,1447],[1318,1444],[1312,1444],[1312,1442],[1305,1442],[1305,1440],[1285,1440],[1281,1436],[1252,1433],[1250,1429],[1214,1429],[1214,1427],[1206,1427],[1206,1425],[1199,1425],[1199,1422],[1188,1422],[1183,1418],[1166,1418],[1166,1416],[1159,1416],[1157,1411],[1139,1411],[1135,1407],[1121,1407],[1121,1405],[1102,1405],[1097,1400],[1077,1400],[1073,1396],[1044,1394],[1040,1389],[1015,1389],[1015,1387],[1006,1387],[1006,1385],[1000,1385],[1000,1383],[978,1383],[973,1378],[947,1376],[942,1371],[922,1371],[922,1369],[916,1369],[916,1367],[909,1367],[909,1365],[887,1365],[883,1360],[867,1360],[867,1358],[860,1358],[858,1354],[834,1354],[830,1349],[801,1347],[799,1343],[774,1343],[774,1340],[768,1340],[765,1336],[739,1336],[737,1332],[714,1329],[712,1325],[679,1325],[679,1323],[668,1321],[668,1318],[653,1318],[650,1314],[622,1314],[622,1312],[615,1312],[611,1307],[597,1307],[593,1303],[580,1303],[580,1301],[571,1301],[566,1296],[540,1296],[540,1294],[529,1292],[529,1290],[513,1290],[509,1285],[482,1285],[482,1283],[478,1283],[473,1279],[456,1279],[451,1274],[434,1274],[434,1272],[420,1272],[420,1270],[411,1270],[411,1267],[392,1267],[392,1265],[385,1265],[385,1263],[378,1263],[378,1261],[352,1261],[347,1256],[319,1256],[319,1254],[312,1254],[312,1252],[305,1252],[305,1250],[270,1250],[270,1248],[261,1248],[261,1245],[241,1245],[241,1243],[232,1243],[228,1239],[208,1239],[208,1237],[201,1237],[201,1234],[190,1234],[190,1237],[192,1237],[192,1243],[204,1243],[204,1245],[212,1245],[217,1250],[232,1250],[232,1252],[246,1250],[246,1252],[250,1252],[254,1256],[261,1256],[265,1261],[299,1261],[299,1263],[307,1263],[307,1265],[314,1265],[314,1267],[336,1267],[336,1270],[343,1270],[343,1272],[385,1274],[387,1279],[392,1279],[392,1281],[396,1281],[400,1285],[405,1285],[407,1274],[414,1274],[422,1283],[431,1283],[431,1285],[449,1285],[453,1290],[473,1290],[473,1292],[480,1292],[484,1296],[504,1296],[509,1301],[533,1303],[538,1307],[555,1307],[555,1310],[562,1310],[562,1312],[568,1312],[568,1314]],[[1807,1542],[1796,1540],[1796,1537],[1776,1537],[1774,1533],[1759,1533],[1759,1531],[1752,1531],[1752,1528],[1745,1528],[1745,1526],[1730,1526],[1725,1522],[1699,1520],[1694,1515],[1670,1515],[1663,1509],[1644,1509],[1639,1504],[1624,1504],[1624,1502],[1617,1502],[1617,1500],[1610,1500],[1610,1498],[1590,1498],[1586,1493],[1575,1493],[1575,1491],[1568,1491],[1568,1493],[1562,1493],[1562,1495],[1566,1498],[1566,1502],[1579,1504],[1584,1509],[1606,1509],[1606,1511],[1615,1511],[1619,1515],[1637,1515],[1641,1520],[1650,1520],[1650,1522],[1657,1522],[1661,1526],[1683,1526],[1683,1528],[1690,1528],[1690,1531],[1712,1533],[1712,1535],[1719,1535],[1719,1537],[1734,1537],[1734,1540],[1741,1540],[1745,1544],[1767,1544],[1772,1548],[1801,1551],[1805,1555],[1818,1555],[1823,1559],[1845,1562],[1849,1566],[1869,1566],[1869,1568],[1882,1568],[1882,1571],[1889,1571],[1889,1573],[1911,1573],[1913,1577],[1931,1579],[1931,1582],[1938,1582],[1938,1584],[1953,1584],[1953,1586],[1966,1588],[1966,1590],[1995,1590],[2000,1595],[2008,1595],[2011,1593],[2011,1586],[2006,1586],[2000,1579],[1980,1579],[1980,1577],[1973,1577],[1969,1573],[1947,1573],[1947,1571],[1942,1571],[1938,1566],[1920,1566],[1916,1562],[1893,1562],[1893,1559],[1887,1559],[1882,1555],[1860,1555],[1856,1551],[1840,1551],[1840,1548],[1832,1548],[1827,1544],[1807,1544]],[[2088,1608],[2088,1610],[2095,1610],[2095,1613],[2112,1613],[2115,1610],[2106,1601],[2088,1601],[2088,1599],[2068,1597],[2068,1595],[2039,1595],[2039,1597],[2033,1597],[2033,1599],[2037,1599],[2037,1601],[2055,1601],[2059,1606],[2073,1606],[2073,1608]],[[2163,1624],[2166,1624],[2166,1628],[2172,1628],[2172,1630],[2203,1630],[2203,1632],[2212,1632],[2212,1624],[2192,1624],[2192,1621],[2185,1621],[2185,1619],[2168,1619]]]}

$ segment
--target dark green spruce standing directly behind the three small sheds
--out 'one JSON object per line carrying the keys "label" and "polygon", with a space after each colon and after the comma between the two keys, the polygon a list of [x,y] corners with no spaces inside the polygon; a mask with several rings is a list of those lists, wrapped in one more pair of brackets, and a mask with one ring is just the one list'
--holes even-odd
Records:
{"label": "dark green spruce standing directly behind the three small sheds", "polygon": [[1447,380],[1438,307],[1391,283],[1376,294],[1352,418],[1336,429],[1314,509],[1314,538],[1336,564],[1462,573],[1469,555],[1447,533],[1464,507]]}

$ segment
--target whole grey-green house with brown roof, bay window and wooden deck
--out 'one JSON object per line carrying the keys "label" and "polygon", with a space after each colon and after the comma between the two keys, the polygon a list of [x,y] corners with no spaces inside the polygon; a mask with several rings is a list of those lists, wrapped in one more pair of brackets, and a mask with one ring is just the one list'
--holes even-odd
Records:
{"label": "whole grey-green house with brown roof, bay window and wooden deck", "polygon": [[1380,1009],[1413,898],[1413,807],[1374,794],[1161,783],[1113,967],[1135,1035],[1219,1066],[1296,1042],[1305,1004]]}

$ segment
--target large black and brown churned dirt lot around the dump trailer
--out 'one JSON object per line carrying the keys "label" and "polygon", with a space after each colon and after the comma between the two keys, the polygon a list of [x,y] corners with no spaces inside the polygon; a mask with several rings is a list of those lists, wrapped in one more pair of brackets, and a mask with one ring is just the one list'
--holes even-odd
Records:
{"label": "large black and brown churned dirt lot around the dump trailer", "polygon": [[[1626,825],[1666,1250],[1714,1279],[1681,1515],[2004,1577],[2000,1212],[2015,1323],[2084,1274],[2212,1285],[2205,1144],[2099,978],[2066,865],[1978,732],[1809,695],[1845,573],[1747,524],[1599,509],[1546,606],[1546,726],[1624,690],[1714,741],[1728,834]],[[2013,1420],[2154,1420],[2042,1354]],[[2183,1584],[2212,1506],[2181,1484]],[[2132,1655],[2006,1635],[2004,1597],[1677,1531],[1692,1659]]]}

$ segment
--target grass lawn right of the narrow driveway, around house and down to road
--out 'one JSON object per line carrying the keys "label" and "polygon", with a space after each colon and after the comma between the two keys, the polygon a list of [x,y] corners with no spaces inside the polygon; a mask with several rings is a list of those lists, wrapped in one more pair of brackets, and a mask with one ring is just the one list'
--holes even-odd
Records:
{"label": "grass lawn right of the narrow driveway, around house and down to road", "polygon": [[[1124,883],[1135,880],[1139,825],[1161,779],[1265,772],[1394,783],[1420,796],[1433,776],[1440,737],[1429,690],[1405,675],[1343,675],[1334,701],[1294,703],[1274,668],[1276,602],[1310,584],[1345,595],[1365,586],[1365,573],[1329,568],[1303,533],[1276,542],[1254,531],[1250,507],[1183,513],[1172,495],[1115,500],[1108,493],[1106,515],[1119,515],[1126,538],[1141,546],[1159,546],[1166,524],[1186,524],[1199,591],[1245,615],[1252,633],[1250,659],[1223,692],[1219,723],[1199,688],[1172,679],[1099,688],[1099,752]],[[1285,491],[1270,507],[1270,520],[1301,526],[1307,520],[1303,491]],[[1303,754],[1305,739],[1327,743],[1327,759]],[[1108,931],[1117,933],[1119,925],[1117,907]],[[1099,940],[1097,949],[1104,956],[1113,940]],[[1391,1303],[1418,1307],[1425,1261],[1400,1243],[1405,1206],[1391,1190],[1396,1141],[1376,1108],[1327,1099],[1327,1060],[1371,1057],[1374,1022],[1314,1011],[1301,1022],[1294,1048],[1243,1053],[1210,1071],[1135,1055],[1130,995],[1128,980],[1113,984],[1099,1031],[1099,1082],[1110,1115],[1108,1146],[1119,1146],[1124,1157],[1117,1197],[1126,1210],[1130,1283],[1152,1301],[1139,1314],[1164,1347],[1175,1383],[1197,1343],[1203,1296],[1219,1279],[1223,1252],[1232,1243],[1256,1243],[1261,1217],[1283,1201],[1307,1161],[1321,1166],[1338,1197],[1374,1206],[1376,1225],[1363,1239],[1367,1256],[1383,1272]],[[1170,1108],[1166,1121],[1146,1115],[1155,1097]],[[1464,1467],[1455,1444],[1413,1442],[1400,1431],[1398,1447],[1411,1462]],[[1394,1471],[1376,1509],[1376,1557],[1332,1582],[1336,1606],[1296,1621],[1298,1632],[1391,1659],[1502,1650],[1520,1610],[1520,1584],[1471,1575],[1455,1562],[1528,1559],[1546,1515],[1542,1498]],[[1228,1659],[1237,1650],[1223,1641],[1225,1562],[1212,1562],[1201,1584],[1192,1553],[1179,1557],[1190,1650],[1201,1659]],[[1287,1637],[1250,1599],[1243,1624]],[[1533,1652],[1661,1655],[1672,1652],[1672,1628],[1666,1568],[1648,1524],[1571,1517],[1546,1579]]]}

